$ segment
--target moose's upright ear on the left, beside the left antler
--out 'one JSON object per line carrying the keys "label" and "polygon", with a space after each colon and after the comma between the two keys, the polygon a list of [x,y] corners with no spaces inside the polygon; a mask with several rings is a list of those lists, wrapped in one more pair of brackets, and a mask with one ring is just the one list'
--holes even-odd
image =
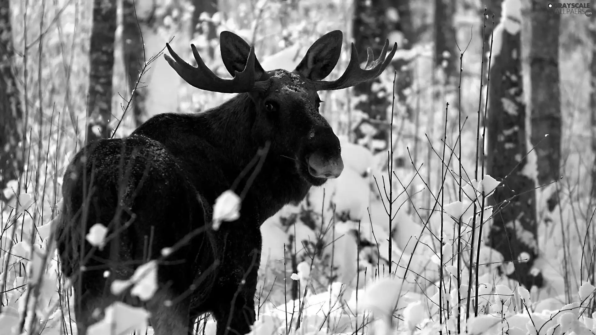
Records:
{"label": "moose's upright ear on the left, beside the left antler", "polygon": [[[250,52],[250,45],[244,39],[235,33],[224,31],[219,35],[219,49],[224,66],[230,75],[234,76],[235,71],[244,71]],[[260,66],[259,60],[254,57],[254,78],[259,80],[263,74],[265,74],[265,70]]]}

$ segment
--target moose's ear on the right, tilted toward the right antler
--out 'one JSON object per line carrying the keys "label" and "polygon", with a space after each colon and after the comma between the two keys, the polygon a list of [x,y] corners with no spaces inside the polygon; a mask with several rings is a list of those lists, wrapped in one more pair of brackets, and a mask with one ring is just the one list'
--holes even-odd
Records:
{"label": "moose's ear on the right, tilted toward the right antler", "polygon": [[321,80],[327,77],[339,60],[342,52],[343,33],[333,30],[321,36],[306,51],[294,73],[311,80]]}

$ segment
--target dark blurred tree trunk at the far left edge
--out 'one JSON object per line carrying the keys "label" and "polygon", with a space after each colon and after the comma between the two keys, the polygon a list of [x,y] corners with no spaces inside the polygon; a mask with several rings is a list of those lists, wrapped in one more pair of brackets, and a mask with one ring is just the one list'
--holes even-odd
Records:
{"label": "dark blurred tree trunk at the far left edge", "polygon": [[23,172],[19,148],[23,141],[23,110],[11,68],[14,49],[10,13],[10,0],[0,0],[0,200],[7,182],[17,180]]}

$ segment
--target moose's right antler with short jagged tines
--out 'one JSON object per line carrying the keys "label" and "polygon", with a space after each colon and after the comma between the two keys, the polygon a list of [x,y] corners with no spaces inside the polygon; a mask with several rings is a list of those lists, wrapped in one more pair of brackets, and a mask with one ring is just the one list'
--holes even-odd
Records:
{"label": "moose's right antler with short jagged tines", "polygon": [[389,55],[387,55],[387,48],[389,47],[389,39],[385,41],[381,55],[374,59],[374,53],[371,48],[367,49],[367,64],[362,69],[358,63],[358,50],[352,43],[352,54],[350,55],[350,62],[347,64],[343,75],[333,81],[315,80],[313,84],[317,91],[331,91],[334,89],[343,89],[358,85],[361,82],[374,79],[380,75],[386,67],[391,63],[393,55],[398,50],[398,44],[393,44],[393,48]]}

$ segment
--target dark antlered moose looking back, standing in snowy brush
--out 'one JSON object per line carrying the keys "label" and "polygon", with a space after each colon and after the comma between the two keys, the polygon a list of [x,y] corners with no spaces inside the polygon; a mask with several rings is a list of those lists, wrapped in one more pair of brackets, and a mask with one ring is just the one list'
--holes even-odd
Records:
{"label": "dark antlered moose looking back, standing in snowy brush", "polygon": [[[222,32],[221,56],[232,79],[215,75],[194,45],[196,67],[166,44],[171,57],[164,58],[187,83],[237,94],[206,111],[157,114],[125,138],[90,142],[67,166],[54,238],[75,291],[79,334],[117,301],[147,309],[156,335],[193,333],[206,312],[217,335],[251,331],[260,225],[343,170],[340,141],[319,114],[317,92],[374,79],[397,49],[387,53],[386,40],[375,60],[368,48],[362,69],[352,44],[343,75],[322,80],[339,61],[342,41],[340,30],[329,32],[292,72],[265,71],[254,46]],[[258,171],[255,157],[262,160]],[[247,188],[240,217],[213,229],[215,201],[232,188]],[[107,228],[103,246],[86,239],[98,223]],[[110,289],[150,260],[157,262],[157,290],[148,300]]]}

